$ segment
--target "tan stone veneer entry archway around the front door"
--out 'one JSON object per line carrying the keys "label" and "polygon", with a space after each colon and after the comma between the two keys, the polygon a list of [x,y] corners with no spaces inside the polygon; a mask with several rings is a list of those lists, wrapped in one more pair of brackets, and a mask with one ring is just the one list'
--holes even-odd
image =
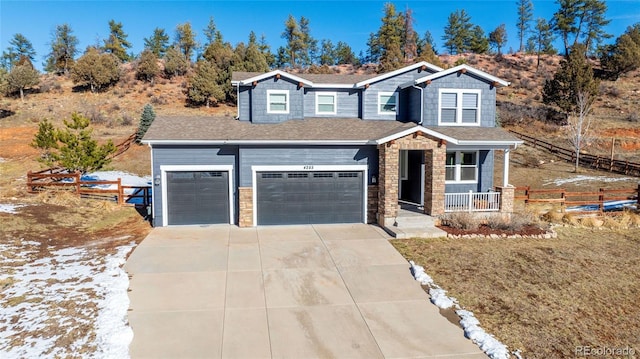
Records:
{"label": "tan stone veneer entry archway around the front door", "polygon": [[378,145],[379,195],[378,224],[384,226],[398,215],[398,166],[400,150],[425,151],[424,212],[429,215],[444,213],[446,143],[423,133]]}

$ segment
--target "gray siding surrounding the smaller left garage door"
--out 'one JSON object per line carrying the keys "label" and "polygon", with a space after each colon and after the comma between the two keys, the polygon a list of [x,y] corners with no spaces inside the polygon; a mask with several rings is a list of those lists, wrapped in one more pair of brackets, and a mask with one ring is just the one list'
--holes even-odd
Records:
{"label": "gray siding surrounding the smaller left garage door", "polygon": [[[236,188],[238,183],[237,159],[238,146],[153,146],[153,178],[160,176],[160,166],[167,165],[233,165],[233,198],[232,203],[236,203]],[[155,215],[154,225],[162,225],[162,187],[153,187],[153,213]],[[237,206],[234,204],[237,213]]]}

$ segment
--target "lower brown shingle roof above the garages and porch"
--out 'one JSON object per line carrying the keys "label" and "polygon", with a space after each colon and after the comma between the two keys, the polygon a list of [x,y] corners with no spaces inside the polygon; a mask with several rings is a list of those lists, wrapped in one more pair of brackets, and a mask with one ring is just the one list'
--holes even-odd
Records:
{"label": "lower brown shingle roof above the garages and porch", "polygon": [[[353,141],[372,142],[419,127],[415,123],[357,118],[306,118],[274,124],[256,124],[231,117],[158,117],[144,142],[189,141]],[[422,128],[422,127],[419,127]],[[419,129],[418,128],[418,129]],[[519,140],[496,127],[427,127],[460,141]]]}

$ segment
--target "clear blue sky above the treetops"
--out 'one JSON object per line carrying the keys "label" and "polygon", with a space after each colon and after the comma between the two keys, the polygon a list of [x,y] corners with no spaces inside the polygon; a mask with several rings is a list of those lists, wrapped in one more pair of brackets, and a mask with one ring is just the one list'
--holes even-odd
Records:
{"label": "clear blue sky above the treetops", "polygon": [[[202,30],[207,26],[209,17],[213,16],[226,41],[234,45],[246,42],[253,30],[258,37],[264,34],[275,52],[284,44],[280,34],[284,21],[292,14],[296,18],[305,16],[310,19],[311,32],[316,39],[331,39],[334,44],[345,41],[358,55],[360,50],[366,51],[369,33],[377,31],[380,26],[385,2],[0,0],[0,49],[7,48],[13,34],[22,33],[33,43],[37,52],[35,63],[41,67],[56,25],[71,25],[80,41],[79,48],[84,51],[88,45],[102,44],[102,39],[108,34],[108,22],[114,19],[122,22],[133,45],[132,51],[139,53],[144,46],[143,39],[151,36],[155,27],[164,28],[173,39],[176,25],[187,21],[197,31],[198,40],[204,42]],[[421,36],[425,31],[431,31],[440,52],[444,52],[442,34],[447,17],[457,9],[465,9],[471,16],[471,22],[480,25],[487,34],[505,23],[508,34],[505,50],[518,47],[516,0],[394,3],[398,10],[407,6],[413,10],[416,31]],[[557,10],[555,1],[534,0],[533,4],[535,18],[550,19]],[[627,26],[640,22],[640,0],[608,1],[607,6],[607,17],[611,19],[607,31],[614,36],[624,32]]]}

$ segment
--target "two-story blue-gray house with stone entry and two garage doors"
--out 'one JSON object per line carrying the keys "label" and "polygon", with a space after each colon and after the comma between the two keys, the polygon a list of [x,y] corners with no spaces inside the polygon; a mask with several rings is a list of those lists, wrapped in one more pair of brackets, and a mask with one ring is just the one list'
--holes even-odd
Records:
{"label": "two-story blue-gray house with stone entry and two garage doors", "polygon": [[155,226],[389,226],[401,202],[428,215],[510,211],[474,197],[494,188],[496,150],[513,196],[521,141],[496,127],[504,80],[421,62],[380,75],[236,72],[232,84],[235,118],[158,117],[147,131]]}

